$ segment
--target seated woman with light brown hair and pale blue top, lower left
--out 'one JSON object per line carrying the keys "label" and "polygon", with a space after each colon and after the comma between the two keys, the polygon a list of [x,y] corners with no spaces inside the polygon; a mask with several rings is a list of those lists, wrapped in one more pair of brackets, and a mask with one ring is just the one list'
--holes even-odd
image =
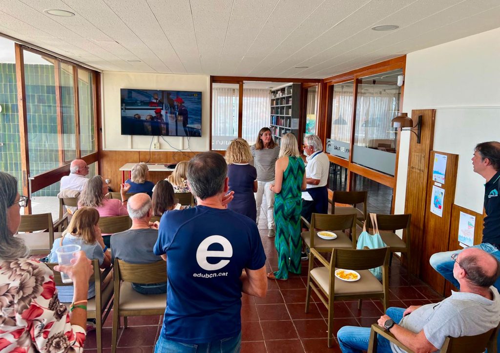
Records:
{"label": "seated woman with light brown hair and pale blue top, lower left", "polygon": [[[79,245],[81,251],[90,260],[99,261],[100,268],[107,268],[111,265],[111,255],[104,245],[104,240],[97,225],[99,212],[95,208],[81,207],[71,217],[69,225],[62,233],[62,237],[55,239],[52,250],[48,255],[49,262],[57,262],[57,249],[63,245]],[[59,300],[69,302],[73,297],[73,286],[57,286]],[[95,283],[88,286],[87,299],[95,296]]]}

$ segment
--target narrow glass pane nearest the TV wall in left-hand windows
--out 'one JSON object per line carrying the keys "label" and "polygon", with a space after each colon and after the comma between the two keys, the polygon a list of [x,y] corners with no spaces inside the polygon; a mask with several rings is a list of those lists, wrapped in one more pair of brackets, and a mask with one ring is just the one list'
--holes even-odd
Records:
{"label": "narrow glass pane nearest the TV wall in left-hand windows", "polygon": [[80,118],[81,155],[95,152],[92,74],[78,69],[78,109]]}

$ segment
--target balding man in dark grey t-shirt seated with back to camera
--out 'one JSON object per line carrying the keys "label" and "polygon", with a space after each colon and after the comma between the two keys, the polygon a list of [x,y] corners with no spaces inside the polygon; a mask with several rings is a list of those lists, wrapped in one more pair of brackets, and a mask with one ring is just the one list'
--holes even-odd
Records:
{"label": "balding man in dark grey t-shirt seated with back to camera", "polygon": [[[127,210],[132,219],[132,226],[111,236],[111,261],[114,262],[114,258],[129,263],[152,263],[161,260],[161,257],[153,254],[158,230],[156,225],[149,226],[152,215],[151,198],[144,193],[132,195],[128,199]],[[162,294],[166,293],[166,282],[132,283],[132,288],[141,294]]]}

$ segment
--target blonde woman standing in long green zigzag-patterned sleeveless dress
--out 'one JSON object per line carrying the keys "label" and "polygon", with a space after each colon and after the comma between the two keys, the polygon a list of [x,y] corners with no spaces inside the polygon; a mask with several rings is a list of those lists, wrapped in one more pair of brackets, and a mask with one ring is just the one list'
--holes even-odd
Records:
{"label": "blonde woman standing in long green zigzag-patterned sleeveless dress", "polygon": [[271,279],[286,280],[288,272],[300,274],[300,211],[301,190],[305,189],[305,167],[298,152],[297,139],[285,134],[281,139],[279,159],[276,161],[274,184],[274,222],[276,238],[274,245],[278,252],[278,270],[267,273]]}

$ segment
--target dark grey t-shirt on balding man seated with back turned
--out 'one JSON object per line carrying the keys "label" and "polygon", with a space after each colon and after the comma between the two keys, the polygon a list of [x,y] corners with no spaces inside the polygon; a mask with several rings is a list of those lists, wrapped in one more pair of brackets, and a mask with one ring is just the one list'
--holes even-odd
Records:
{"label": "dark grey t-shirt on balding man seated with back turned", "polygon": [[153,254],[158,239],[156,229],[129,229],[110,238],[111,261],[117,257],[129,263],[152,263],[161,260]]}

